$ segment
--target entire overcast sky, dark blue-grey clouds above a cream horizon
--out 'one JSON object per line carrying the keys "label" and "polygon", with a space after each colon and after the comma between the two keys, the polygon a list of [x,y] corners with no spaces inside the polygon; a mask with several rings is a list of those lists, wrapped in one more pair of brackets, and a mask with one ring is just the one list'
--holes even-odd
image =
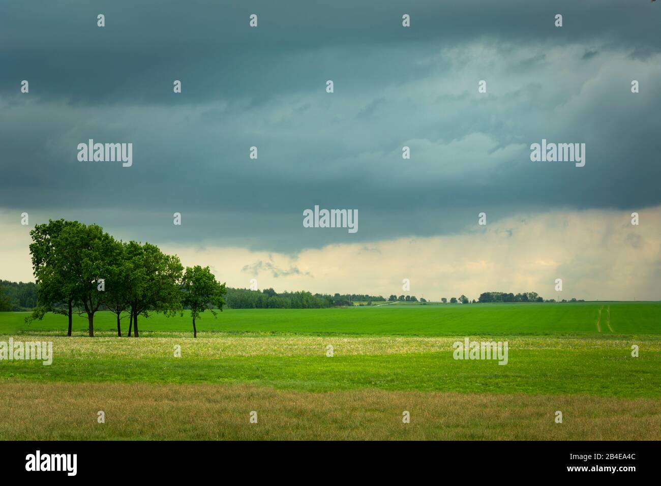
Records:
{"label": "entire overcast sky, dark blue-grey clouds above a cream horizon", "polygon": [[[647,0],[2,0],[0,278],[32,278],[28,212],[230,286],[658,300],[660,22]],[[78,161],[89,139],[132,167]],[[531,162],[542,139],[586,165]],[[358,232],[304,228],[315,204]]]}

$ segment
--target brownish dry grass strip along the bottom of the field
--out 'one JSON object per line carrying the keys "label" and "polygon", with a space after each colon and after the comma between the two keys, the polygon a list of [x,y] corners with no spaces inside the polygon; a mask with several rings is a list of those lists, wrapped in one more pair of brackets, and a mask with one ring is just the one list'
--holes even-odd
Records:
{"label": "brownish dry grass strip along the bottom of the field", "polygon": [[15,440],[661,439],[658,399],[116,383],[3,384],[3,393],[0,438]]}

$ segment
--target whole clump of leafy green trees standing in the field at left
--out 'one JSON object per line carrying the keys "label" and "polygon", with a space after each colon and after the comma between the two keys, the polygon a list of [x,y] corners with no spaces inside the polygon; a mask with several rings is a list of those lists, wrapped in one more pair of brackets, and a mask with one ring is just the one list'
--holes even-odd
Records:
{"label": "whole clump of leafy green trees standing in the field at left", "polygon": [[138,316],[165,315],[190,309],[195,319],[205,309],[222,310],[225,284],[215,280],[209,267],[184,270],[176,255],[167,255],[151,243],[124,242],[99,225],[50,220],[30,231],[32,267],[38,285],[37,305],[26,320],[46,312],[66,315],[71,336],[74,312],[87,315],[94,336],[94,316],[108,309],[116,314],[117,335],[122,316],[130,318],[128,335],[139,336]]}

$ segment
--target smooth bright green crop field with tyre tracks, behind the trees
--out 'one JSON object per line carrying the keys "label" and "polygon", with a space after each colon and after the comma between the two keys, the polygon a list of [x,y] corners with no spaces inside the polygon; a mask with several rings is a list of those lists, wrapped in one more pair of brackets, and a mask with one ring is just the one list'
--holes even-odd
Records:
{"label": "smooth bright green crop field with tyre tracks, behind the trees", "polygon": [[[611,327],[597,329],[599,309],[610,307]],[[0,333],[66,330],[66,318],[47,315],[24,323],[27,313],[0,314]],[[294,333],[303,335],[457,336],[457,335],[641,335],[661,333],[661,304],[586,302],[571,304],[394,304],[347,309],[228,309],[217,319],[199,319],[200,331]],[[124,319],[122,327],[128,328]],[[116,331],[116,317],[99,312],[95,330]],[[87,334],[87,317],[75,316],[75,332]],[[140,331],[192,331],[190,319],[152,314],[139,319]]]}

